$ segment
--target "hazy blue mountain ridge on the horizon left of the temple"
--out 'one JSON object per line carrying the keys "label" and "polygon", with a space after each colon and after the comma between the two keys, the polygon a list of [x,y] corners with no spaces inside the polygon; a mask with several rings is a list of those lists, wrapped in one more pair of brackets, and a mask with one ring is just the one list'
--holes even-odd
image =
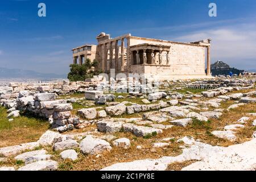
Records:
{"label": "hazy blue mountain ridge on the horizon left of the temple", "polygon": [[67,75],[39,73],[23,69],[0,68],[0,78],[67,78]]}

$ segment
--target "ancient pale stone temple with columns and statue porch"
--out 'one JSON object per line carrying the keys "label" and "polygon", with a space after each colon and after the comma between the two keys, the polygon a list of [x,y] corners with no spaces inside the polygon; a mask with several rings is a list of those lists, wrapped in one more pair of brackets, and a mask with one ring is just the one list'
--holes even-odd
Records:
{"label": "ancient pale stone temple with columns and statue porch", "polygon": [[[167,40],[141,38],[126,34],[110,38],[102,32],[96,37],[98,45],[85,45],[72,49],[73,63],[98,60],[104,73],[115,71],[144,74],[159,80],[173,78],[208,78],[210,73],[210,39],[181,43]],[[207,73],[205,73],[207,60]],[[120,74],[119,74],[120,75]]]}

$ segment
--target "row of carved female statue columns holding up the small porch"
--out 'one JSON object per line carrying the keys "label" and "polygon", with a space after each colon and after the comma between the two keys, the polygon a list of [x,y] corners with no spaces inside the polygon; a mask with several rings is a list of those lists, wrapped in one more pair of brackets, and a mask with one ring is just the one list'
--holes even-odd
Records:
{"label": "row of carved female statue columns holding up the small porch", "polygon": [[[147,52],[146,52],[147,49],[143,49],[143,64],[147,64]],[[136,53],[136,61],[134,61],[136,64],[141,64],[141,59],[140,59],[140,56],[139,56],[139,51],[140,49],[136,50],[137,53]],[[156,60],[155,60],[155,55],[156,55],[156,52],[154,52],[155,50],[154,49],[151,49],[150,51],[150,63],[151,64],[156,64]],[[163,63],[163,54],[162,54],[162,50],[159,50],[159,65],[162,65]],[[170,51],[166,51],[167,54],[166,54],[166,65],[170,65]]]}

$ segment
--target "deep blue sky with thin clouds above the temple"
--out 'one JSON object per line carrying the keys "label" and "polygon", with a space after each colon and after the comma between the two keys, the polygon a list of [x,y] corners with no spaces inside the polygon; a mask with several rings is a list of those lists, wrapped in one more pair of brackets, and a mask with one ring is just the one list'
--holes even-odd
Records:
{"label": "deep blue sky with thin clouds above the temple", "polygon": [[[47,16],[39,18],[38,4]],[[217,4],[217,17],[208,5]],[[71,48],[106,32],[191,42],[212,38],[212,62],[256,69],[256,1],[127,0],[0,2],[0,67],[63,74]]]}

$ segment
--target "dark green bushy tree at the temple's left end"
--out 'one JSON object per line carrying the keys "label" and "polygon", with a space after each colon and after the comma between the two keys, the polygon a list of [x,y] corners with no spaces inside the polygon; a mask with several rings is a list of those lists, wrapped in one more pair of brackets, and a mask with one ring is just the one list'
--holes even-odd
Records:
{"label": "dark green bushy tree at the temple's left end", "polygon": [[[85,63],[82,65],[71,64],[70,72],[68,73],[69,81],[84,81],[85,78],[92,78],[94,75],[98,75],[101,71],[96,71],[95,68],[98,66],[98,61],[86,59]],[[94,69],[93,69],[94,68]]]}

